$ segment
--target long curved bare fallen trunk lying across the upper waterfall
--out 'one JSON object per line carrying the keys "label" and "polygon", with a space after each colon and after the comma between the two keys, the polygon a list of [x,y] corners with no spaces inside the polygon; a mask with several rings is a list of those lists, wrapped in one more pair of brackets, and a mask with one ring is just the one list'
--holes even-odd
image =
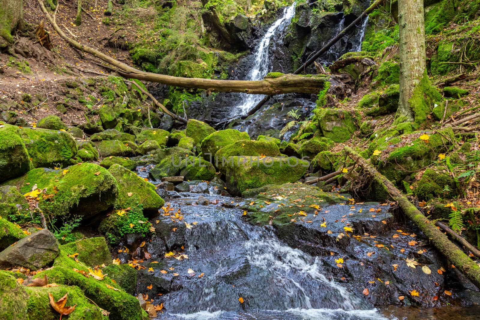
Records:
{"label": "long curved bare fallen trunk lying across the upper waterfall", "polygon": [[329,80],[324,75],[306,77],[301,75],[284,74],[279,77],[265,77],[260,81],[244,81],[244,80],[213,80],[202,78],[183,78],[173,77],[165,74],[152,72],[144,72],[132,68],[112,57],[85,45],[65,35],[58,24],[52,19],[42,0],[37,0],[42,12],[47,17],[48,22],[53,26],[55,31],[68,42],[72,47],[90,53],[91,55],[115,66],[120,69],[118,71],[121,76],[129,79],[137,79],[141,81],[150,81],[156,83],[168,84],[183,88],[204,89],[210,92],[243,92],[247,94],[271,95],[286,94],[292,92],[301,92],[308,94],[317,94],[323,89],[324,83]]}

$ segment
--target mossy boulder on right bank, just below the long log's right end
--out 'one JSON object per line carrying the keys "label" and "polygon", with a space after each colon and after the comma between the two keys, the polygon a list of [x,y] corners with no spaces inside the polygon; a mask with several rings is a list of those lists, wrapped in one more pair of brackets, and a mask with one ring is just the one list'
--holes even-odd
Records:
{"label": "mossy boulder on right bank, just below the long log's right end", "polygon": [[321,108],[316,112],[322,135],[334,142],[345,142],[357,130],[356,115],[342,109]]}

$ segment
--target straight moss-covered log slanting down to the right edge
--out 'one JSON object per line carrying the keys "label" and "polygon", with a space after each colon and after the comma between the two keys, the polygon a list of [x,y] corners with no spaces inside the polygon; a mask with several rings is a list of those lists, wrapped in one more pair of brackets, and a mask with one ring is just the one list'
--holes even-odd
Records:
{"label": "straight moss-covered log slanting down to the right edge", "polygon": [[423,232],[431,243],[442,253],[457,270],[463,273],[468,280],[480,288],[480,267],[472,261],[461,249],[453,244],[439,229],[435,227],[396,187],[380,174],[370,163],[363,159],[352,148],[345,147],[345,153],[353,159],[363,170],[367,171],[372,179],[385,187],[393,200],[397,201],[403,213]]}

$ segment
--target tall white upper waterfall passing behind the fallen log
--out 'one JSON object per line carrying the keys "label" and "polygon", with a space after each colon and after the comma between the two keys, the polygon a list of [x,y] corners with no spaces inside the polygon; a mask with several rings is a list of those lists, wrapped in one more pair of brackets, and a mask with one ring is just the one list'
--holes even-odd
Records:
{"label": "tall white upper waterfall passing behind the fallen log", "polygon": [[[270,46],[270,40],[277,32],[283,32],[285,27],[290,24],[295,15],[294,2],[290,7],[284,9],[283,15],[267,30],[262,40],[255,49],[255,60],[253,62],[252,70],[248,73],[245,80],[262,80],[272,68],[272,63],[268,59],[268,47]],[[237,106],[242,113],[248,112],[252,107],[256,106],[260,100],[264,98],[264,95],[247,95],[241,94],[240,103]]]}

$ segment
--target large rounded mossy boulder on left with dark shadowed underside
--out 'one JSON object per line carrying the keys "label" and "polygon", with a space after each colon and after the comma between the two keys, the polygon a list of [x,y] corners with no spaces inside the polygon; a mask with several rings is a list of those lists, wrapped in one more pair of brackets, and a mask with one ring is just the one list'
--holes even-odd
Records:
{"label": "large rounded mossy boulder on left with dark shadowed underside", "polygon": [[47,189],[46,193],[54,197],[40,200],[38,205],[44,213],[53,216],[71,213],[84,219],[113,207],[118,195],[115,178],[107,169],[91,163],[65,170],[36,168],[5,185],[16,186],[22,194],[31,191],[34,185],[39,190]]}

